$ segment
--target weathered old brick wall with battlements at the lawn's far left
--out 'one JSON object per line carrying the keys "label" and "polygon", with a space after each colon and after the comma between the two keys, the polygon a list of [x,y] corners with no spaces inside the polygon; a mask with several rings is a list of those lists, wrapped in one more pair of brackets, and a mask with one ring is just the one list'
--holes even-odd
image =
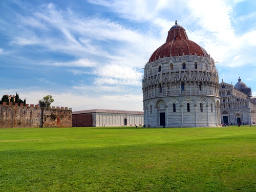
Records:
{"label": "weathered old brick wall with battlements at the lawn's far left", "polygon": [[0,105],[0,128],[71,127],[72,111]]}

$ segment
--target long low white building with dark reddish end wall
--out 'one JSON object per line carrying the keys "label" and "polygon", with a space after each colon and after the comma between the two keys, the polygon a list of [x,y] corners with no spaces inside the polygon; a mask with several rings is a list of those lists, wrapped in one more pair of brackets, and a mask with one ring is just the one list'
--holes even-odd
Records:
{"label": "long low white building with dark reddish end wall", "polygon": [[72,126],[136,126],[144,122],[143,112],[84,110],[72,112]]}

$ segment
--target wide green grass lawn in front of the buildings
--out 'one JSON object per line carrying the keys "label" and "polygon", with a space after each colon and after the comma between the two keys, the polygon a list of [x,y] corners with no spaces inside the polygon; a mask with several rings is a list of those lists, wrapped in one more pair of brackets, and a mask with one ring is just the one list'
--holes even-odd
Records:
{"label": "wide green grass lawn in front of the buildings", "polygon": [[0,129],[0,191],[256,191],[256,127]]}

